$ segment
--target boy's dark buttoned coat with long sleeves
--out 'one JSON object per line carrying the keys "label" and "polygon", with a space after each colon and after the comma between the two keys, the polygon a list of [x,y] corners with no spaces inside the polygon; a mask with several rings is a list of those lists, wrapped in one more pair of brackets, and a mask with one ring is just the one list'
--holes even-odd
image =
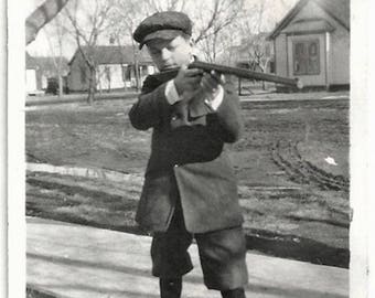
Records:
{"label": "boy's dark buttoned coat with long sleeves", "polygon": [[178,191],[188,231],[204,233],[240,225],[236,179],[223,151],[224,143],[236,141],[243,130],[233,85],[225,85],[217,111],[207,114],[204,104],[201,113],[195,108],[199,117],[205,117],[205,125],[172,129],[173,106],[164,95],[168,79],[149,76],[129,111],[135,128],[153,129],[136,220],[151,231],[165,231]]}

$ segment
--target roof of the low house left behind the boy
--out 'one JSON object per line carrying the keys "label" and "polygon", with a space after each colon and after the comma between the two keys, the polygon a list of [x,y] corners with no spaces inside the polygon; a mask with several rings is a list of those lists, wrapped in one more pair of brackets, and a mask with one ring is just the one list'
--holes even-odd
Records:
{"label": "roof of the low house left behind the boy", "polygon": [[[131,45],[97,45],[83,46],[82,50],[90,55],[97,64],[131,64],[133,63],[133,47]],[[79,49],[75,52],[68,64],[72,64],[76,55],[79,54]],[[140,51],[139,62],[152,62],[150,55],[146,51]]]}

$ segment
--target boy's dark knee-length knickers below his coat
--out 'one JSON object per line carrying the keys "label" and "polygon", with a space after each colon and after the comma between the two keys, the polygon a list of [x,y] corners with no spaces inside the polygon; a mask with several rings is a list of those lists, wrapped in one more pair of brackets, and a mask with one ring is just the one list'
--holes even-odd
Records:
{"label": "boy's dark knee-length knickers below his coat", "polygon": [[168,231],[153,235],[152,274],[173,279],[192,270],[188,248],[193,237],[207,288],[227,290],[247,284],[246,243],[242,226],[193,235],[185,228],[179,200]]}

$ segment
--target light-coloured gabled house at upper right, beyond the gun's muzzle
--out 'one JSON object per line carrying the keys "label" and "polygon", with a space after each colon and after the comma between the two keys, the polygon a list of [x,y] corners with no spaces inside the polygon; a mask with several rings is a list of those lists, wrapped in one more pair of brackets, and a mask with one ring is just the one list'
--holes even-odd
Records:
{"label": "light-coloured gabled house at upper right, beyond the gun's muzzle", "polygon": [[300,0],[268,39],[276,74],[307,87],[350,84],[350,0]]}

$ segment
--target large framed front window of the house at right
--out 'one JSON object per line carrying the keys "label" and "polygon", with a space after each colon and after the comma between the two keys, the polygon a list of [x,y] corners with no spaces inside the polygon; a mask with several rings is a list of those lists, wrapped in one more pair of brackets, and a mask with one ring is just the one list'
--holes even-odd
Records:
{"label": "large framed front window of the house at right", "polygon": [[293,42],[293,74],[320,74],[319,40]]}

